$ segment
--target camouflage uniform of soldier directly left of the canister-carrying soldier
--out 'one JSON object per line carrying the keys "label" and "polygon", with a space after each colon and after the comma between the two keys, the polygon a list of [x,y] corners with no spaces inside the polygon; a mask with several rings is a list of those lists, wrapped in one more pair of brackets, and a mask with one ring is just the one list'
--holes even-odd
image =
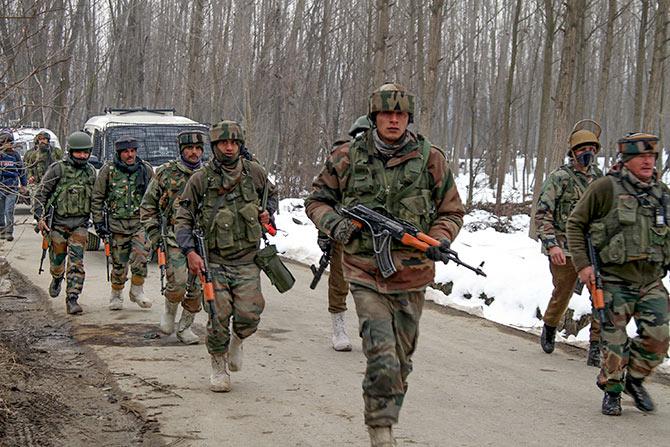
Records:
{"label": "camouflage uniform of soldier directly left of the canister-carrying soldier", "polygon": [[187,294],[188,265],[186,257],[177,245],[174,233],[178,199],[192,174],[193,171],[180,160],[173,160],[161,166],[144,194],[140,216],[152,247],[157,247],[160,242],[161,219],[165,220],[167,245],[165,298],[172,303],[181,303],[182,307],[191,313],[198,313],[201,309],[200,293],[196,290]]}

